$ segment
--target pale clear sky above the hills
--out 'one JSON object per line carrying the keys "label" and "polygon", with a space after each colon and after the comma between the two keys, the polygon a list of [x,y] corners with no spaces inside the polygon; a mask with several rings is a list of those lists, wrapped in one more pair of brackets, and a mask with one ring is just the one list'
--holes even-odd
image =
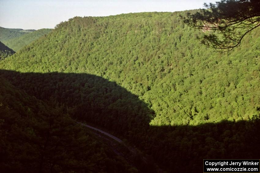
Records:
{"label": "pale clear sky above the hills", "polygon": [[136,12],[174,12],[203,8],[213,0],[0,0],[0,26],[54,28],[74,16],[110,16]]}

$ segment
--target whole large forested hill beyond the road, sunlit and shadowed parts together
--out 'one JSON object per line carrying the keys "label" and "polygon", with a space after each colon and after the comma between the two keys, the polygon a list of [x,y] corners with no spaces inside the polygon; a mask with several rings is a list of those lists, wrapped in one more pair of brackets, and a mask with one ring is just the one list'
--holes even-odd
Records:
{"label": "whole large forested hill beyond the road, sunlit and shadowed parts together", "polygon": [[202,172],[205,158],[257,158],[259,28],[219,53],[180,14],[74,17],[1,61],[0,75],[63,106],[58,114],[110,130],[167,172]]}

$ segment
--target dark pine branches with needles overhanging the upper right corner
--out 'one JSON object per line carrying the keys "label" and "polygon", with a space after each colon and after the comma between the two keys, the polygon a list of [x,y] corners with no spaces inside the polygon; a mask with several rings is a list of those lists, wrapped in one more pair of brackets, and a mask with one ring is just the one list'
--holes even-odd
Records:
{"label": "dark pine branches with needles overhanging the upper right corner", "polygon": [[[208,47],[232,50],[248,32],[260,26],[259,0],[221,0],[204,6],[206,9],[187,13],[181,19],[188,26],[205,32],[198,38]],[[213,31],[206,32],[208,30]]]}

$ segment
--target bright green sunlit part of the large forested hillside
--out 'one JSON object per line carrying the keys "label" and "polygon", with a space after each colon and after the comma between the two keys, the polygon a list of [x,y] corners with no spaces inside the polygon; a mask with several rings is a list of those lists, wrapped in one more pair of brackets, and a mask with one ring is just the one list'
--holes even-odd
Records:
{"label": "bright green sunlit part of the large forested hillside", "polygon": [[248,120],[260,107],[259,28],[218,53],[175,13],[74,17],[0,62],[21,72],[88,73],[144,100],[151,125]]}

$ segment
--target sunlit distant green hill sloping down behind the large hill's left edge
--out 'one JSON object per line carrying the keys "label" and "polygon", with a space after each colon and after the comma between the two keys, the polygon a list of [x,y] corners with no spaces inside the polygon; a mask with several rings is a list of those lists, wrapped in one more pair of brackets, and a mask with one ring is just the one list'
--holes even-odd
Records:
{"label": "sunlit distant green hill sloping down behind the large hill's left edge", "polygon": [[[27,31],[27,30],[22,30]],[[33,41],[37,40],[38,38],[42,37],[45,34],[51,32],[52,29],[39,29],[37,31],[30,31],[28,34],[20,35],[19,37],[14,37],[8,40],[5,40],[5,44],[12,48],[14,51],[19,51],[26,45],[29,45]],[[21,31],[20,31],[21,32]]]}

